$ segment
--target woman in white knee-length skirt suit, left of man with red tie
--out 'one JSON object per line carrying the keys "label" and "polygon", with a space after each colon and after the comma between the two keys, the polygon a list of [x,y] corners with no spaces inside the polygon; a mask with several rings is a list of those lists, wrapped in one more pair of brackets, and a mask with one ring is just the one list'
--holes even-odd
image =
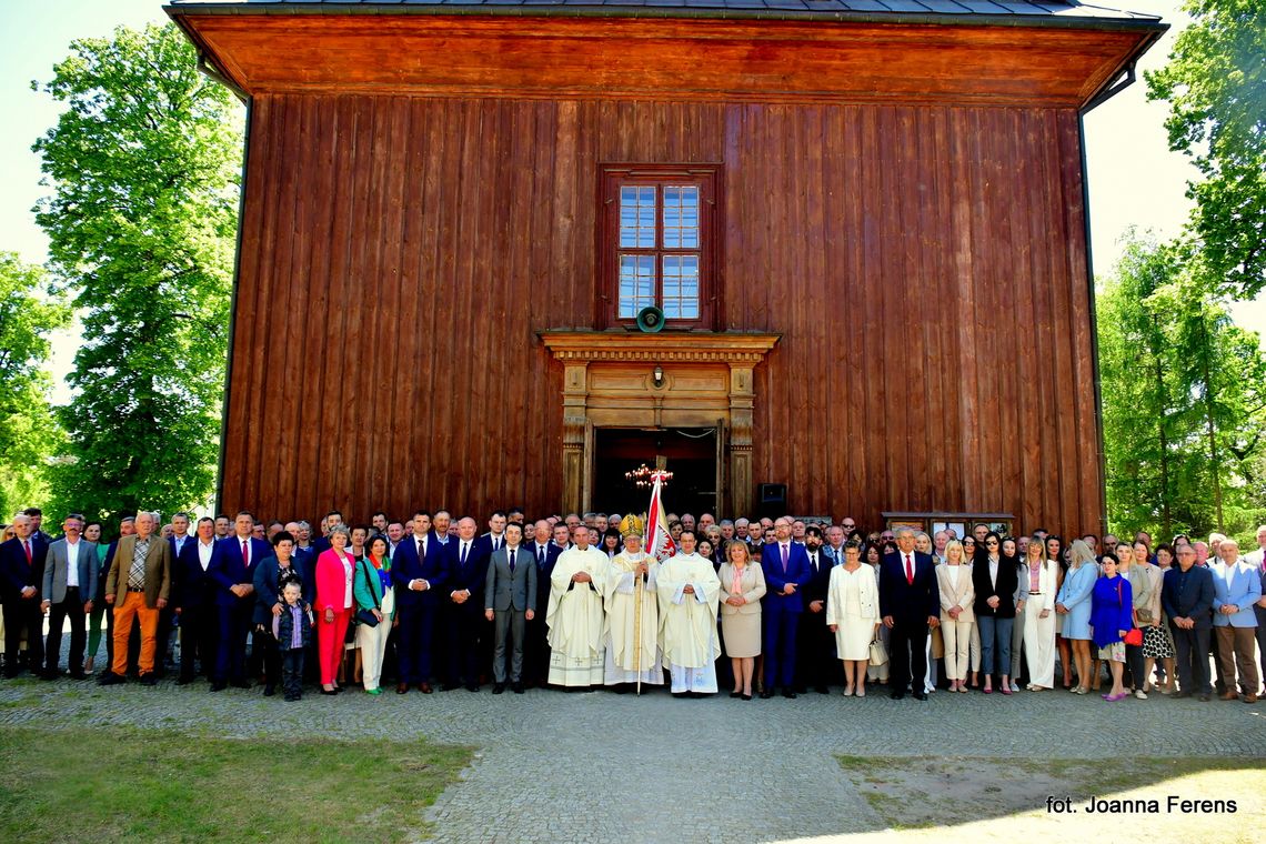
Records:
{"label": "woman in white knee-length skirt suit, left of man with red tie", "polygon": [[879,634],[879,585],[862,564],[857,543],[844,545],[844,562],[830,569],[827,587],[827,626],[836,634],[836,653],[844,663],[844,697],[866,697],[870,643]]}

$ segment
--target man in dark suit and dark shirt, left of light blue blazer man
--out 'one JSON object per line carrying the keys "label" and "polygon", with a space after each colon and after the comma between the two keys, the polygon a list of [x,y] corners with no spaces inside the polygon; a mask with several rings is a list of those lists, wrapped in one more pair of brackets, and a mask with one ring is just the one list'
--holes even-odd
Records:
{"label": "man in dark suit and dark shirt, left of light blue blazer man", "polygon": [[1213,630],[1213,572],[1195,564],[1195,548],[1181,544],[1176,549],[1179,564],[1165,572],[1161,606],[1170,619],[1174,652],[1177,662],[1179,691],[1174,697],[1199,695],[1208,701],[1209,635]]}

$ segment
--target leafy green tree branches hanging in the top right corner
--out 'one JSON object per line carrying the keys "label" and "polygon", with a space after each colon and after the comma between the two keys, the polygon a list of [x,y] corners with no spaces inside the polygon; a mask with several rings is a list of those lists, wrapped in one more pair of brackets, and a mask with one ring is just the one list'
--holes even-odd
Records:
{"label": "leafy green tree branches hanging in the top right corner", "polygon": [[1266,3],[1185,9],[1194,22],[1146,75],[1148,97],[1170,101],[1170,148],[1204,176],[1188,187],[1193,245],[1224,292],[1252,299],[1266,287]]}

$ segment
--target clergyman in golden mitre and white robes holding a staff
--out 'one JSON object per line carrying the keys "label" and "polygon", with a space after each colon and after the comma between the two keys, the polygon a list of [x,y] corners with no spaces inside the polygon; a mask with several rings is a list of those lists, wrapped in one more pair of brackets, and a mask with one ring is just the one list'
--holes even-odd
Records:
{"label": "clergyman in golden mitre and white robes holding a staff", "polygon": [[624,549],[606,569],[606,673],[608,686],[663,685],[660,667],[660,564],[642,550],[642,524],[624,516]]}

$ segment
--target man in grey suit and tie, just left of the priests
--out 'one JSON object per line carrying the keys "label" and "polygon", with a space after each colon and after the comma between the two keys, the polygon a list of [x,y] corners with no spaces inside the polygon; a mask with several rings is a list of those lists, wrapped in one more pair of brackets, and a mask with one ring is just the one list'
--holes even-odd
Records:
{"label": "man in grey suit and tie, just left of the priests", "polygon": [[492,693],[505,691],[505,640],[513,639],[510,683],[523,693],[523,638],[527,621],[537,614],[537,566],[530,550],[522,548],[523,525],[505,526],[505,544],[492,552],[484,583],[484,615],[496,621],[492,645]]}

